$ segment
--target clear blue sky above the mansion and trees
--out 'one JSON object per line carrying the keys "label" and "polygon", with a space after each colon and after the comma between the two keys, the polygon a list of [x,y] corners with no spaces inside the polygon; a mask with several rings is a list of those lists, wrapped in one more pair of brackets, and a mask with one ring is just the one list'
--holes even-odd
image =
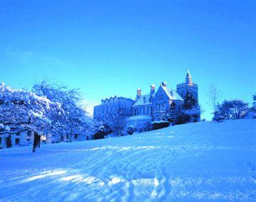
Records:
{"label": "clear blue sky above the mansion and trees", "polygon": [[0,82],[31,89],[46,78],[79,87],[90,106],[189,69],[199,87],[252,103],[256,1],[0,0]]}

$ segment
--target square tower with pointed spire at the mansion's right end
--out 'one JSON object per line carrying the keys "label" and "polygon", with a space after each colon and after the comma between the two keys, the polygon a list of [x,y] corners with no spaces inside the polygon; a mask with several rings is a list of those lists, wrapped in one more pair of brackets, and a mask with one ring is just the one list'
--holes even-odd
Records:
{"label": "square tower with pointed spire at the mansion's right end", "polygon": [[177,92],[183,99],[185,99],[186,93],[190,92],[196,101],[198,101],[198,85],[192,82],[189,71],[186,73],[185,83],[177,85]]}

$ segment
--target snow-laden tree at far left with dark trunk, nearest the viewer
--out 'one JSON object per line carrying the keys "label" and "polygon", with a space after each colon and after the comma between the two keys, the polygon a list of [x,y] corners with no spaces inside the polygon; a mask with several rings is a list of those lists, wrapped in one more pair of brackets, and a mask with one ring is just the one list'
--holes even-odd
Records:
{"label": "snow-laden tree at far left with dark trunk, nearest the viewer", "polygon": [[0,133],[33,130],[38,135],[55,133],[65,120],[61,104],[31,91],[0,84]]}

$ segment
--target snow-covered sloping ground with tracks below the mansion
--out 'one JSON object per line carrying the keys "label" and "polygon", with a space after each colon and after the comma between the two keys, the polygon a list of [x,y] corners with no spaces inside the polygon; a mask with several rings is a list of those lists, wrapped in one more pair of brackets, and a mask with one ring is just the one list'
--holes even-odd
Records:
{"label": "snow-covered sloping ground with tracks below the mansion", "polygon": [[256,120],[0,150],[0,201],[256,201]]}

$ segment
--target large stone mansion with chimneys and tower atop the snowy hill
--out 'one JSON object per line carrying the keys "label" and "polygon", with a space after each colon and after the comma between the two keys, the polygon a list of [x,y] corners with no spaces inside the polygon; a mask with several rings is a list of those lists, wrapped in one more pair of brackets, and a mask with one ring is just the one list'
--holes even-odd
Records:
{"label": "large stone mansion with chimneys and tower atop the snowy hill", "polygon": [[127,110],[129,116],[150,116],[153,120],[161,120],[171,103],[183,103],[187,92],[193,94],[198,101],[198,85],[192,82],[191,74],[186,73],[186,80],[176,86],[176,90],[169,89],[166,82],[161,82],[156,91],[154,85],[150,86],[149,94],[142,94],[142,89],[137,89],[136,99],[124,97],[110,97],[102,99],[101,104],[94,107],[93,117],[100,120],[102,116],[115,113],[118,108]]}

